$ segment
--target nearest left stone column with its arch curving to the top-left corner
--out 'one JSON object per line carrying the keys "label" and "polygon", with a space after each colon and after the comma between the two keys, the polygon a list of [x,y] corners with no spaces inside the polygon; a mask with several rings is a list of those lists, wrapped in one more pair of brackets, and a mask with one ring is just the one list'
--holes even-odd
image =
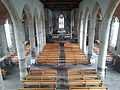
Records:
{"label": "nearest left stone column with its arch curving to the top-left corner", "polygon": [[20,80],[23,80],[26,76],[25,53],[24,53],[23,37],[21,37],[21,39],[19,38],[23,34],[21,31],[19,31],[19,30],[23,30],[21,23],[22,20],[20,19],[17,10],[15,9],[12,2],[10,2],[10,0],[1,0],[1,2],[3,3],[3,5],[5,5],[13,22],[15,39],[16,39],[15,42],[17,47],[17,56],[19,60]]}

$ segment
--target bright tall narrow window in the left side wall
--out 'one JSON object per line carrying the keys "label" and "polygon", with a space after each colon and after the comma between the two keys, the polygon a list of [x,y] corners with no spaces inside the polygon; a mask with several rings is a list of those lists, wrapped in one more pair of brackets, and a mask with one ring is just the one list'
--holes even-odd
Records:
{"label": "bright tall narrow window in the left side wall", "polygon": [[9,25],[8,19],[5,21],[4,28],[5,28],[8,47],[11,48],[12,47],[12,37],[11,37],[12,27]]}

